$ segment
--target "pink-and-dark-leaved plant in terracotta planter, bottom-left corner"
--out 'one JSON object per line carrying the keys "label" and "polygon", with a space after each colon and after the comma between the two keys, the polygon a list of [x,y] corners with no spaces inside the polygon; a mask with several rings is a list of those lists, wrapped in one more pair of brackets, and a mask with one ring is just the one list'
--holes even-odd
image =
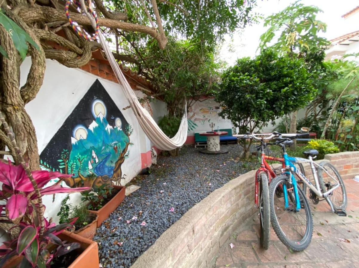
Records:
{"label": "pink-and-dark-leaved plant in terracotta planter, bottom-left corner", "polygon": [[[8,232],[10,240],[0,246],[0,267],[56,267],[56,260],[74,259],[75,263],[85,263],[83,258],[92,260],[92,265],[87,265],[87,268],[98,267],[97,243],[88,239],[85,241],[81,237],[76,239],[79,236],[74,237],[75,234],[61,234],[65,229],[72,228],[73,223],[56,225],[51,219],[47,221],[44,217],[45,206],[42,204],[43,195],[74,193],[89,188],[64,188],[61,185],[45,187],[52,178],[71,175],[46,170],[30,171],[16,144],[14,133],[1,112],[0,122],[17,152],[14,158],[20,163],[12,165],[10,161],[0,161],[0,182],[3,183],[0,199],[5,203],[0,205],[1,222],[11,225],[11,230],[18,230],[15,235],[14,232]],[[72,259],[64,257],[69,253]],[[68,262],[60,265],[71,267],[72,264]]]}

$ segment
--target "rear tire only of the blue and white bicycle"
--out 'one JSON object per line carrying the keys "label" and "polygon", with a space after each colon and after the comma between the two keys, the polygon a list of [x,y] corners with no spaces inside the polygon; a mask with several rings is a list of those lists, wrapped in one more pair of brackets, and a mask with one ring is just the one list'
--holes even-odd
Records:
{"label": "rear tire only of the blue and white bicycle", "polygon": [[[347,205],[347,197],[346,197],[346,190],[345,190],[345,186],[344,186],[344,182],[343,182],[343,179],[341,178],[341,176],[339,175],[339,172],[337,171],[337,169],[332,165],[330,164],[330,162],[327,162],[327,161],[322,161],[319,163],[319,165],[321,167],[323,167],[324,169],[328,169],[330,168],[334,174],[336,175],[339,183],[340,183],[340,188],[341,188],[341,191],[342,191],[342,204],[341,205],[336,205],[334,202],[333,202],[333,193],[336,191],[334,190],[331,194],[328,195],[328,198],[330,199],[332,205],[333,205],[333,208],[334,209],[345,209],[346,208],[346,205]],[[319,181],[319,185],[320,185],[320,189],[322,190],[322,193],[325,193],[326,191],[328,191],[329,189],[331,189],[331,185],[328,185],[330,184],[330,182],[328,181],[328,178],[324,178],[323,177],[323,170],[322,169],[317,169],[318,171],[318,181]],[[337,188],[338,189],[338,188]],[[335,199],[335,198],[334,198]]]}

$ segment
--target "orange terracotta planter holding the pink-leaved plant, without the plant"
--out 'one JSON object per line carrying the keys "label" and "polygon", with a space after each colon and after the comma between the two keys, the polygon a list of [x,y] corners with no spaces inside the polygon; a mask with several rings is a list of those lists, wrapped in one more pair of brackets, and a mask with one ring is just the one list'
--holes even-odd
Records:
{"label": "orange terracotta planter holding the pink-leaved plant, without the plant", "polygon": [[[68,268],[99,267],[97,242],[67,231],[64,231],[63,233],[59,234],[58,237],[61,240],[66,240],[68,242],[80,243],[80,248],[78,250],[80,250],[81,253]],[[23,258],[23,255],[13,256],[5,262],[3,268],[17,267],[17,265],[19,265]]]}

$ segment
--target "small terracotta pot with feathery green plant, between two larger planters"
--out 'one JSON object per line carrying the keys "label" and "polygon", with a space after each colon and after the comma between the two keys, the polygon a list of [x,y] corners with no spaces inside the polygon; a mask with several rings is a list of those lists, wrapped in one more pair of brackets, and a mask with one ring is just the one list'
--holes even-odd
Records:
{"label": "small terracotta pot with feathery green plant, between two larger planters", "polygon": [[61,202],[61,208],[57,216],[60,216],[60,224],[71,222],[76,219],[74,223],[73,233],[80,235],[87,239],[93,239],[96,233],[98,215],[91,213],[84,204],[72,205],[67,204],[70,196],[67,195]]}

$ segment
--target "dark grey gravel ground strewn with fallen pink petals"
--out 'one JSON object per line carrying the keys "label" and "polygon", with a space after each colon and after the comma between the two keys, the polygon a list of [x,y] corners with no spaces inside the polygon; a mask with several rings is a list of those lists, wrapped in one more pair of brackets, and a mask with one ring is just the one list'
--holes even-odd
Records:
{"label": "dark grey gravel ground strewn with fallen pink petals", "polygon": [[241,146],[221,147],[229,153],[205,155],[185,146],[180,156],[159,157],[150,175],[131,181],[141,188],[126,196],[94,237],[103,267],[129,267],[192,206],[238,175],[256,169],[256,162],[238,161]]}

